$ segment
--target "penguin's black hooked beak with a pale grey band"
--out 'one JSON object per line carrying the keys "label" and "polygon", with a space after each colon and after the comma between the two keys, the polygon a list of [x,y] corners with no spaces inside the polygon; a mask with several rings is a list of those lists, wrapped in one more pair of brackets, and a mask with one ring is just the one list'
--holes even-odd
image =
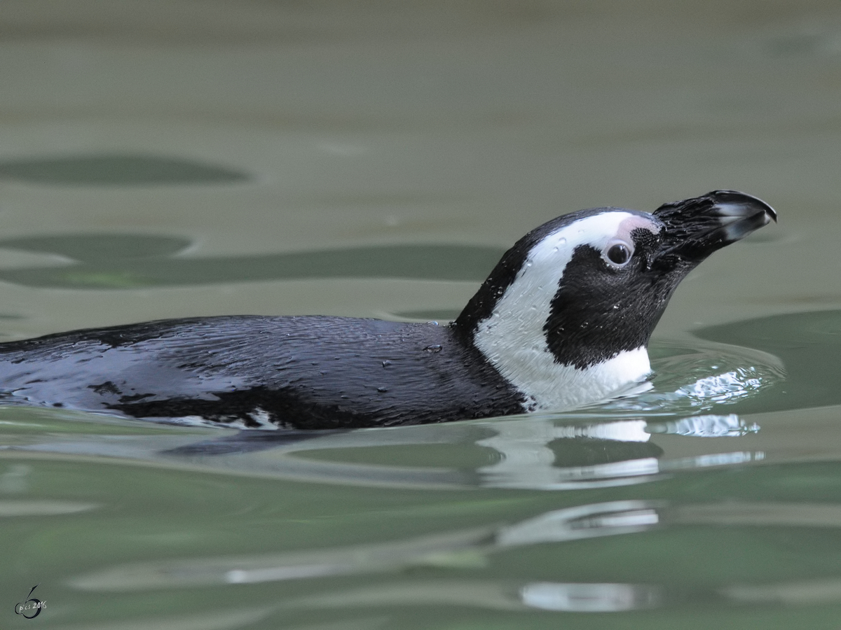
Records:
{"label": "penguin's black hooked beak with a pale grey band", "polygon": [[712,191],[666,203],[653,215],[665,226],[655,265],[673,269],[695,266],[717,249],[777,220],[773,207],[737,191]]}

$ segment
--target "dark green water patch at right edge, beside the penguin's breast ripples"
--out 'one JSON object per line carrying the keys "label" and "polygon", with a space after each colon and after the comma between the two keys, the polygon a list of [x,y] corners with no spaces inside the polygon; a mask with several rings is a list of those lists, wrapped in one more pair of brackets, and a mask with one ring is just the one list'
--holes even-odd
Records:
{"label": "dark green water patch at right edge, beside the penguin's breast ripples", "polygon": [[841,311],[796,312],[695,331],[701,339],[775,354],[786,378],[762,396],[740,402],[741,413],[841,404]]}

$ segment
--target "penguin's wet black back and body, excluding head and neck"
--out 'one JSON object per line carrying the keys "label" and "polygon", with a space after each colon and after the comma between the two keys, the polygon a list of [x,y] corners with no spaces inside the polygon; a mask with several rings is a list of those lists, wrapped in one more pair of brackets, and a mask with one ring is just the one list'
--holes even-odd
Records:
{"label": "penguin's wet black back and body, excluding head and neck", "polygon": [[0,345],[19,401],[266,428],[389,426],[522,410],[475,350],[431,323],[165,320]]}

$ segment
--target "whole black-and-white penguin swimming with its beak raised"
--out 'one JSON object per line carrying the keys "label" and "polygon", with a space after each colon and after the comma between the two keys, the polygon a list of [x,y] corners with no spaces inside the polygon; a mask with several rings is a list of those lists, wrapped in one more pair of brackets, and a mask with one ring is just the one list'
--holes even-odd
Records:
{"label": "whole black-and-white penguin swimming with its beak raised", "polygon": [[290,430],[570,410],[645,384],[680,281],[771,220],[736,191],[563,214],[505,252],[448,325],[246,315],[8,342],[0,404]]}

